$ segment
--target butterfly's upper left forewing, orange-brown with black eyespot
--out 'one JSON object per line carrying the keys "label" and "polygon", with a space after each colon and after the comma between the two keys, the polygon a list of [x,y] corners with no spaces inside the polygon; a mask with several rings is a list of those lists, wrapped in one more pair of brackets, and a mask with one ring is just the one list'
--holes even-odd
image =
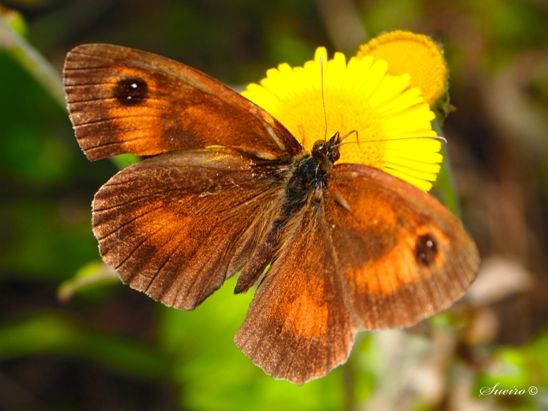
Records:
{"label": "butterfly's upper left forewing, orange-brown with black eyespot", "polygon": [[184,64],[113,45],[82,45],[64,64],[80,147],[90,160],[221,145],[260,158],[301,151],[270,114]]}

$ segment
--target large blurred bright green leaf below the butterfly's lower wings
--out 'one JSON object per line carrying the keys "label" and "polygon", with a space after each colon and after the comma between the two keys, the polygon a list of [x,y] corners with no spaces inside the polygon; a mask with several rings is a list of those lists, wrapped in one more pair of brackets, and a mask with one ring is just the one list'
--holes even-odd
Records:
{"label": "large blurred bright green leaf below the butterfly's lower wings", "polygon": [[236,347],[252,292],[234,295],[235,277],[193,312],[161,308],[159,340],[191,410],[334,410],[345,406],[340,369],[303,386],[275,380]]}

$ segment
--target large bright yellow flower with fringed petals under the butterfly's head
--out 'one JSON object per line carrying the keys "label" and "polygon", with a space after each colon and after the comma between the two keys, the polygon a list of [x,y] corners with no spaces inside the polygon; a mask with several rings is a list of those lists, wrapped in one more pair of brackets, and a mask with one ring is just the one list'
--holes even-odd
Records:
{"label": "large bright yellow flower with fringed petals under the butterfly's head", "polygon": [[326,136],[355,130],[340,147],[338,162],[375,166],[427,191],[443,160],[438,153],[441,144],[416,137],[436,136],[430,124],[434,113],[421,90],[410,88],[410,75],[387,71],[386,61],[370,55],[351,58],[348,64],[342,53],[327,60],[320,47],[303,67],[280,64],[266,72],[260,85],[249,84],[242,95],[272,114],[307,151]]}

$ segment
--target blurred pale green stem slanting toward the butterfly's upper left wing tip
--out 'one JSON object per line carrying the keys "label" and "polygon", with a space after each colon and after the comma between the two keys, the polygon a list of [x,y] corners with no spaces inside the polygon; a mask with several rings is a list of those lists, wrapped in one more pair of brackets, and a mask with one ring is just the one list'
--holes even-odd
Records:
{"label": "blurred pale green stem slanting toward the butterfly's upper left wing tip", "polygon": [[51,97],[66,110],[63,82],[58,71],[25,38],[19,36],[1,14],[0,49],[8,51],[12,58],[21,64],[49,92]]}

